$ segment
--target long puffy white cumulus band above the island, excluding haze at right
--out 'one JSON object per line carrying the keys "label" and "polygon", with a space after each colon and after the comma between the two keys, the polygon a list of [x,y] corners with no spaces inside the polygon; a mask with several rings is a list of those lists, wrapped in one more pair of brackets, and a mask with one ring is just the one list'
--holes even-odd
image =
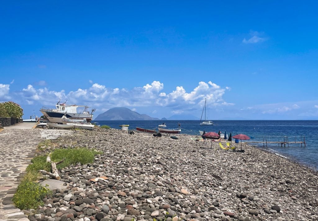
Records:
{"label": "long puffy white cumulus band above the island, excluding haze at right", "polygon": [[[65,93],[50,91],[47,88],[35,88],[31,84],[18,92],[21,102],[28,104],[50,105],[57,103],[59,99],[69,104],[86,104],[99,110],[108,110],[113,107],[168,107],[171,110],[201,109],[205,98],[209,107],[234,105],[223,100],[223,95],[229,87],[221,88],[209,81],[199,82],[189,93],[183,86],[176,86],[172,92],[162,92],[163,83],[153,81],[142,87],[130,90],[125,88],[107,88],[106,85],[94,83],[89,88],[78,88]],[[150,110],[149,110],[150,111]]]}

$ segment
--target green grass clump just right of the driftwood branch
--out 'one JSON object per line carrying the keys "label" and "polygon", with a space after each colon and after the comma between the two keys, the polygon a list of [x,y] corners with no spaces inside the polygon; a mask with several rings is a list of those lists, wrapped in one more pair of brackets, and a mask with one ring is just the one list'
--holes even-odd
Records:
{"label": "green grass clump just right of the driftwood branch", "polygon": [[94,156],[96,154],[101,154],[101,151],[96,151],[94,149],[87,149],[84,147],[75,148],[75,149],[55,149],[52,152],[51,159],[54,162],[59,162],[65,158],[65,160],[56,165],[57,169],[62,169],[69,166],[70,164],[88,164],[94,162]]}

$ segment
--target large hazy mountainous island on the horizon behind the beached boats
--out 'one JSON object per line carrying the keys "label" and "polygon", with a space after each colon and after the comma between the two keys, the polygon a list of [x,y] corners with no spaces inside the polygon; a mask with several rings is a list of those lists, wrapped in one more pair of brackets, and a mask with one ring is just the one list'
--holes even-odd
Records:
{"label": "large hazy mountainous island on the horizon behind the beached boats", "polygon": [[114,107],[99,114],[94,120],[160,120],[156,117],[149,117],[147,114],[140,114],[126,107]]}

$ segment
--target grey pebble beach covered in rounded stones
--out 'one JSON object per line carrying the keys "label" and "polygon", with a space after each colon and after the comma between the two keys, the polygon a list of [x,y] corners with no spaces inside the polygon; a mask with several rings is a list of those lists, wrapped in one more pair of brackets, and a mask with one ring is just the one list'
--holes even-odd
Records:
{"label": "grey pebble beach covered in rounded stones", "polygon": [[98,128],[55,139],[104,153],[60,171],[67,189],[30,220],[318,220],[316,171],[247,144],[235,152],[177,137]]}

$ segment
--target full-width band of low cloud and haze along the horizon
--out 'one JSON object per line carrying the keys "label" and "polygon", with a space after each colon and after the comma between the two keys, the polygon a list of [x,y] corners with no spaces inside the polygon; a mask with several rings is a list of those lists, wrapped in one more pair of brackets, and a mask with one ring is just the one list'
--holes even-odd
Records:
{"label": "full-width band of low cloud and haze along the horizon", "polygon": [[[198,116],[202,111],[205,98],[209,109],[215,116],[226,119],[250,119],[254,115],[258,119],[266,119],[271,116],[298,116],[302,118],[318,117],[318,106],[314,102],[294,102],[279,104],[259,104],[242,107],[238,104],[227,102],[224,95],[230,91],[229,87],[221,87],[211,81],[198,82],[198,85],[186,90],[183,86],[176,86],[172,91],[165,91],[164,84],[153,81],[144,86],[126,88],[111,88],[106,85],[94,83],[88,88],[77,90],[50,90],[42,84],[28,84],[18,91],[11,91],[10,84],[0,84],[0,102],[12,100],[29,109],[42,106],[52,107],[59,100],[68,104],[88,105],[95,108],[96,114],[102,113],[114,107],[127,107],[131,110],[146,113],[148,115],[192,114]],[[310,107],[310,108],[308,108]],[[200,110],[200,111],[199,111]],[[97,115],[96,115],[97,116]],[[155,117],[156,117],[155,116]],[[217,118],[213,116],[213,118]]]}

